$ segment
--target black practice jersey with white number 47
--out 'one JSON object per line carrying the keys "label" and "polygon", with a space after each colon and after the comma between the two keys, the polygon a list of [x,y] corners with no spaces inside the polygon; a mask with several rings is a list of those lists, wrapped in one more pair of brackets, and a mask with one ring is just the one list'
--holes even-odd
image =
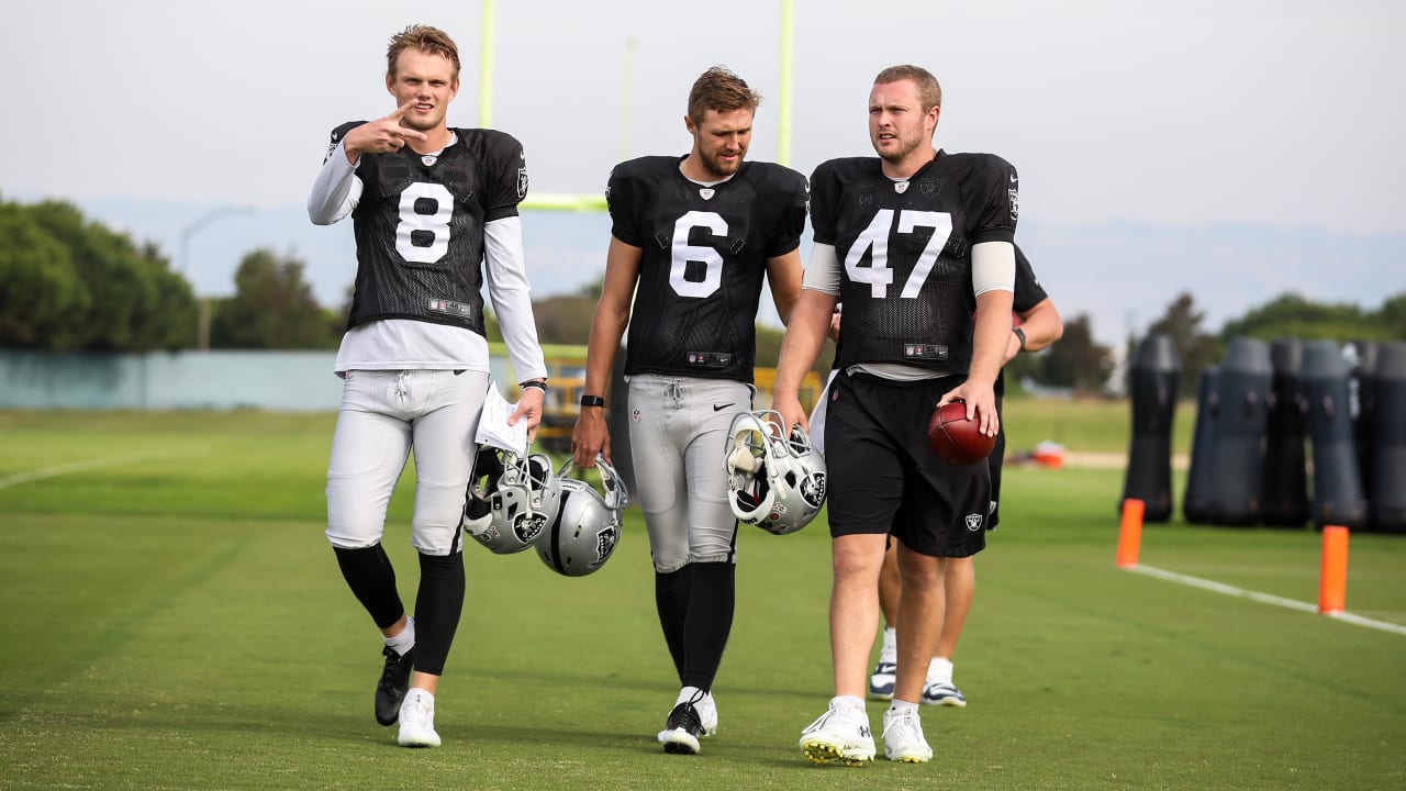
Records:
{"label": "black practice jersey with white number 47", "polygon": [[811,176],[815,242],[834,245],[845,319],[837,363],[966,373],[972,248],[1014,242],[1017,175],[990,153],[946,153],[894,182],[877,158],[832,159]]}

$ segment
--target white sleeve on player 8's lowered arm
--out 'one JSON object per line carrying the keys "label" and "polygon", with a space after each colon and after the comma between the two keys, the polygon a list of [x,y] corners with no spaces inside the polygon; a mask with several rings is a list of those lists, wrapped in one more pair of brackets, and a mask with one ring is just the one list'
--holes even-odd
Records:
{"label": "white sleeve on player 8's lowered arm", "polygon": [[488,298],[494,303],[508,359],[512,360],[519,381],[547,376],[541,343],[537,342],[524,258],[522,217],[503,217],[484,225]]}

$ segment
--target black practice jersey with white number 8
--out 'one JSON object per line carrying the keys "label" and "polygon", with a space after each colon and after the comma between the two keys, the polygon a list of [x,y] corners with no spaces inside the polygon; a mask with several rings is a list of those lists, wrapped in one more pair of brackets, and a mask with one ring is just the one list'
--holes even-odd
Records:
{"label": "black practice jersey with white number 8", "polygon": [[[361,125],[332,131],[332,148]],[[382,318],[449,324],[484,335],[484,225],[515,217],[527,194],[522,144],[494,129],[451,129],[439,156],[404,146],[363,153],[356,294],[347,328]]]}

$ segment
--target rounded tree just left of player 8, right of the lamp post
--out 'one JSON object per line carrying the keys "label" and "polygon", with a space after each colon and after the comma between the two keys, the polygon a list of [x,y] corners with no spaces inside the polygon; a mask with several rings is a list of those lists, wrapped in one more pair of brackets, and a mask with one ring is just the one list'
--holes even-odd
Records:
{"label": "rounded tree just left of player 8, right of the lamp post", "polygon": [[211,348],[330,349],[335,311],[325,311],[302,279],[304,262],[257,249],[239,262],[235,296],[215,304]]}

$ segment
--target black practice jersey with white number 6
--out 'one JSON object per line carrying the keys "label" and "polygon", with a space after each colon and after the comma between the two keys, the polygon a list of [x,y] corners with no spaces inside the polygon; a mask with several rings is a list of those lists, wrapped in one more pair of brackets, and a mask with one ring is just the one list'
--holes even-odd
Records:
{"label": "black practice jersey with white number 6", "polygon": [[610,232],[643,251],[626,373],[751,383],[766,260],[800,245],[806,177],[744,162],[704,187],[682,160],[645,156],[610,173]]}

